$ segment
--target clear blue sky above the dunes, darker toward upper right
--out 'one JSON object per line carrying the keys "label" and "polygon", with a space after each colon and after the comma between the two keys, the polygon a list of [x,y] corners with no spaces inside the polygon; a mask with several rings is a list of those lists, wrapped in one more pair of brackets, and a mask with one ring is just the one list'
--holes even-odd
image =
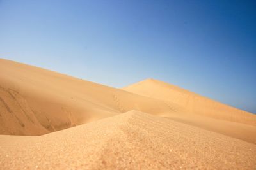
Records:
{"label": "clear blue sky above the dunes, darker toward upper right", "polygon": [[256,113],[255,1],[0,0],[0,57],[113,87],[155,78]]}

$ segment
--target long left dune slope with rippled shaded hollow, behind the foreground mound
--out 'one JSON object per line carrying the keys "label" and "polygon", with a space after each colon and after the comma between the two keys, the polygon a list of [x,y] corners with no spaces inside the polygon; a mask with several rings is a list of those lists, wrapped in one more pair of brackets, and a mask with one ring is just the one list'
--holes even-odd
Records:
{"label": "long left dune slope with rippled shaded hollow, behind the foreground mound", "polygon": [[0,59],[0,134],[39,135],[132,109],[172,113],[163,101]]}

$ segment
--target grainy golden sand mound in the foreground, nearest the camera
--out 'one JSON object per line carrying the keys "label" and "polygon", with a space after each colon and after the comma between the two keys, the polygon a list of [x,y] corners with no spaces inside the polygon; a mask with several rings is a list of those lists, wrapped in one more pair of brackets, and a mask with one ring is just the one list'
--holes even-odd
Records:
{"label": "grainy golden sand mound in the foreground, nearest the camera", "polygon": [[[6,143],[3,138],[15,143]],[[3,169],[253,169],[256,166],[256,145],[139,111],[40,137],[0,136],[0,144]]]}

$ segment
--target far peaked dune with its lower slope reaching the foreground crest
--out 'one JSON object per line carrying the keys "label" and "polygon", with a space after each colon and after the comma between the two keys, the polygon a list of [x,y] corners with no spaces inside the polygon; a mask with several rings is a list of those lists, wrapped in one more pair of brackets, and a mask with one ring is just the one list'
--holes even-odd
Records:
{"label": "far peaked dune with its lower slope reaching the foreground crest", "polygon": [[152,78],[122,89],[162,100],[170,107],[183,108],[163,117],[256,143],[256,115],[252,113]]}

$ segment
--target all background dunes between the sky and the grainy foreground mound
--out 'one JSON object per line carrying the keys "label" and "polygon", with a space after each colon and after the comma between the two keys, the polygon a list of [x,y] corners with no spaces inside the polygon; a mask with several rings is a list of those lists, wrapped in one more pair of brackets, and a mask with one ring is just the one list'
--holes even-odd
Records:
{"label": "all background dunes between the sky and the grainy foreground mound", "polygon": [[256,143],[255,115],[161,81],[127,92],[4,59],[0,72],[0,134],[46,134],[139,110]]}

